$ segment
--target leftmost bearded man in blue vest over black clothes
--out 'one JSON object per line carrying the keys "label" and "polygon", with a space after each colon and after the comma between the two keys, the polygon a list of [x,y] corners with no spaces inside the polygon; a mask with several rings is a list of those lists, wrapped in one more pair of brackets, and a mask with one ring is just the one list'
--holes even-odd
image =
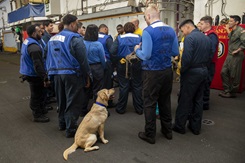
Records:
{"label": "leftmost bearded man in blue vest over black clothes", "polygon": [[30,86],[30,108],[34,122],[49,122],[45,116],[43,90],[49,84],[48,76],[44,68],[43,49],[39,44],[42,37],[38,25],[30,25],[27,28],[28,38],[23,42],[20,58],[20,74],[27,80]]}

